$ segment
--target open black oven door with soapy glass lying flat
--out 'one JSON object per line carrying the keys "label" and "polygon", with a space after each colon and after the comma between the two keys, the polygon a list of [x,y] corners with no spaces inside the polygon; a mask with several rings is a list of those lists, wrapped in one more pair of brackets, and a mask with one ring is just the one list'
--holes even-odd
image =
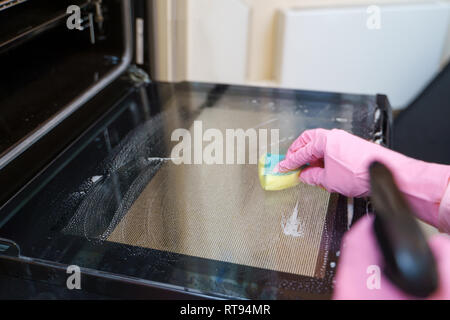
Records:
{"label": "open black oven door with soapy glass lying flat", "polygon": [[[342,235],[367,204],[304,184],[264,191],[252,135],[258,154],[317,127],[389,145],[387,99],[126,74],[40,140],[91,123],[1,207],[1,296],[330,298]],[[230,132],[247,136],[227,159]]]}

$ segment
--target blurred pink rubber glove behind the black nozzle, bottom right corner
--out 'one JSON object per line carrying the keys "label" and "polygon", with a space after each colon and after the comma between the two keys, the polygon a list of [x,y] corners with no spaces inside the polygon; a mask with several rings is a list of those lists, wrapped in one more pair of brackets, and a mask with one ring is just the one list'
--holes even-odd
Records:
{"label": "blurred pink rubber glove behind the black nozzle, bottom right corner", "polygon": [[[375,239],[373,216],[361,218],[345,234],[333,299],[415,299],[395,287],[384,275]],[[428,244],[436,259],[439,287],[427,299],[450,299],[450,237],[436,235]]]}

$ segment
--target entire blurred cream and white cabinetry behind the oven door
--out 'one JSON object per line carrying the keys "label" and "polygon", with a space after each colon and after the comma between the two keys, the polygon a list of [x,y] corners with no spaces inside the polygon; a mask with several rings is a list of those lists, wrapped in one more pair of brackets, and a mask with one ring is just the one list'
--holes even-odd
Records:
{"label": "entire blurred cream and white cabinetry behind the oven door", "polygon": [[379,28],[372,0],[152,3],[161,81],[384,93],[400,108],[450,55],[450,1],[378,0]]}

